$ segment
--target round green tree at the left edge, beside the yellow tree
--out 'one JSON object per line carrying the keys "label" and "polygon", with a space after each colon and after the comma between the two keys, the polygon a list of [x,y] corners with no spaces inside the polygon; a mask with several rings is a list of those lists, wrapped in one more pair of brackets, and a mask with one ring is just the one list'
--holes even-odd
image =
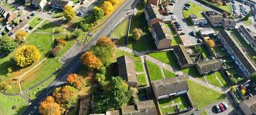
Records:
{"label": "round green tree at the left edge, beside the yellow tree", "polygon": [[0,39],[0,48],[7,53],[12,52],[17,46],[18,44],[10,37],[3,36]]}

